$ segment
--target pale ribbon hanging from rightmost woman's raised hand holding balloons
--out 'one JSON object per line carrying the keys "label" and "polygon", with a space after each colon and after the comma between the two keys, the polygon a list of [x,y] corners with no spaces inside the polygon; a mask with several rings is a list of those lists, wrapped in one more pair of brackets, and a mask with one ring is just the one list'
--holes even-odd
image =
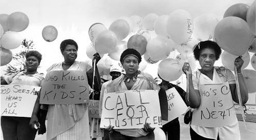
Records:
{"label": "pale ribbon hanging from rightmost woman's raised hand holding balloons", "polygon": [[238,75],[237,75],[237,68],[235,66],[235,83],[236,83],[236,91],[237,91],[237,97],[238,97],[238,103],[239,103],[239,107],[240,107],[240,111],[243,117],[243,122],[246,127],[246,123],[245,123],[245,114],[244,114],[244,109],[243,109],[243,105],[242,105],[242,97],[241,97],[241,93],[240,93],[240,87],[239,87],[239,82],[238,82]]}

